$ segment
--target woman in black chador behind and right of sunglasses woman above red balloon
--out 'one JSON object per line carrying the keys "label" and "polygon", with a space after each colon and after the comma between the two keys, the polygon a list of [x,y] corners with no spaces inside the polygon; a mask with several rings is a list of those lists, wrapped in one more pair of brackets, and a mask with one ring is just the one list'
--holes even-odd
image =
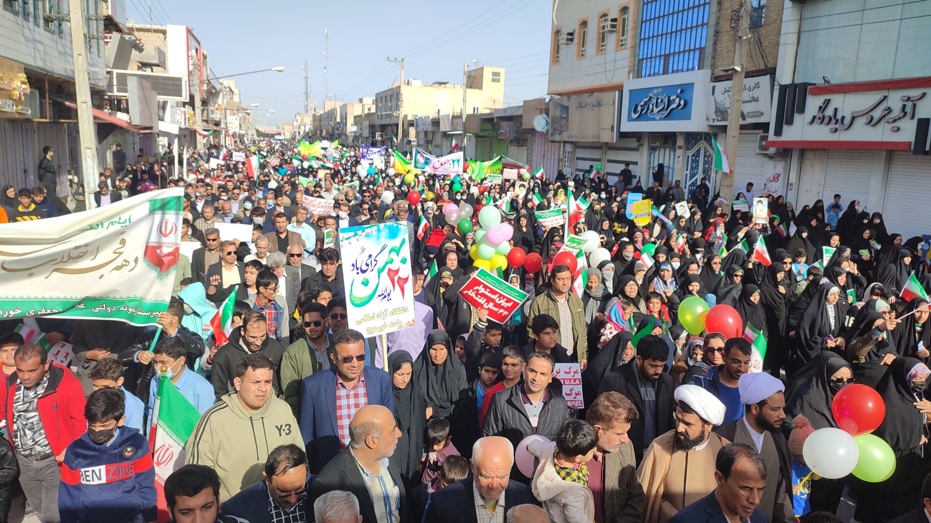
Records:
{"label": "woman in black chador behind and right of sunglasses woman above red balloon", "polygon": [[843,333],[847,342],[847,360],[854,369],[857,383],[876,385],[886,372],[886,365],[897,357],[896,344],[891,339],[889,303],[870,300],[863,304],[854,323]]}

